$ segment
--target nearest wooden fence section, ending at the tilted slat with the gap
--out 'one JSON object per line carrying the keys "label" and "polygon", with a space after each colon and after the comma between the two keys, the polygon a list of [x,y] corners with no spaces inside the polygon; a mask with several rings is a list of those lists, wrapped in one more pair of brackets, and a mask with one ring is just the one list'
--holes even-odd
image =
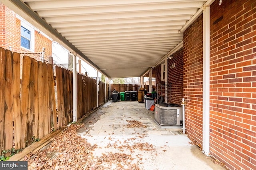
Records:
{"label": "nearest wooden fence section, ending at the tilted slat with the gap", "polygon": [[[51,64],[0,48],[0,152],[30,145],[57,128]],[[20,84],[21,83],[21,84]],[[14,130],[13,130],[14,129]],[[9,156],[7,153],[5,156]]]}

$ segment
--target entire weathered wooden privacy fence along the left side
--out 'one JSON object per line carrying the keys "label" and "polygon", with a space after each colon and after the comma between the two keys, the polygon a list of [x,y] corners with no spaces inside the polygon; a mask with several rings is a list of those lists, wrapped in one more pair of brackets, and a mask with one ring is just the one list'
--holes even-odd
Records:
{"label": "entire weathered wooden privacy fence along the left side", "polygon": [[[21,75],[20,54],[0,47],[0,155],[13,147],[23,149],[73,120],[72,71],[56,66],[55,90],[53,69],[52,64],[24,56]],[[100,104],[104,92],[100,82]],[[96,80],[77,74],[77,117],[94,109],[96,102]]]}

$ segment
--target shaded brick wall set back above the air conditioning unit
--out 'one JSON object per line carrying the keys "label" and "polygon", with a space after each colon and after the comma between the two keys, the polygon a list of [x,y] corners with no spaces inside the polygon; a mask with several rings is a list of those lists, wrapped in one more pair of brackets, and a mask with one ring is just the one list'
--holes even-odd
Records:
{"label": "shaded brick wall set back above the air conditioning unit", "polygon": [[[173,58],[168,59],[168,83],[171,83],[171,89],[168,89],[168,103],[181,104],[183,98],[183,48],[172,54]],[[175,63],[175,68],[170,66]]]}

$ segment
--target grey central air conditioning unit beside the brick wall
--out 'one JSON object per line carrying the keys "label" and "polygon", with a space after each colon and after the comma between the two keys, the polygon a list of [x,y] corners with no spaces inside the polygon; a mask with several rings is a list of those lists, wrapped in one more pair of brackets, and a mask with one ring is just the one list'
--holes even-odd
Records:
{"label": "grey central air conditioning unit beside the brick wall", "polygon": [[180,126],[182,125],[182,107],[178,104],[156,104],[155,121],[163,126]]}

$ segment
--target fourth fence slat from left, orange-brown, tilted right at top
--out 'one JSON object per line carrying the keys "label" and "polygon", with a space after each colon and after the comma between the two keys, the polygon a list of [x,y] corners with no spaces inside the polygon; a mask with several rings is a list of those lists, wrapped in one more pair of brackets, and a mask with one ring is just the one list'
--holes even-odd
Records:
{"label": "fourth fence slat from left, orange-brown, tilted right at top", "polygon": [[21,84],[21,111],[22,111],[22,148],[26,146],[27,139],[27,120],[28,120],[28,98],[29,98],[29,79],[30,79],[30,57],[23,57],[22,64],[22,84]]}

